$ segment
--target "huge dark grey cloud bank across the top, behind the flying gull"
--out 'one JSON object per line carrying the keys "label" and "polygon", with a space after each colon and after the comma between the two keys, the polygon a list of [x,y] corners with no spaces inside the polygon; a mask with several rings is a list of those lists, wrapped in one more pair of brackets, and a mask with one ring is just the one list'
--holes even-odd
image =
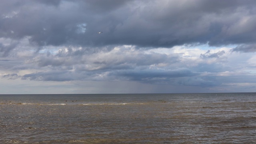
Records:
{"label": "huge dark grey cloud bank across the top, behind the flying gull", "polygon": [[28,36],[40,46],[255,43],[255,5],[255,0],[3,1],[0,36]]}

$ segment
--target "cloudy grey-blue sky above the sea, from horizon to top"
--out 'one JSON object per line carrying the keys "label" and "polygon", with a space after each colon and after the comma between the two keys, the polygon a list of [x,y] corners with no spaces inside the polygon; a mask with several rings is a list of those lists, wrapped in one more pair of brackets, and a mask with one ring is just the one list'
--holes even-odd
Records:
{"label": "cloudy grey-blue sky above the sea, from horizon to top", "polygon": [[256,92],[255,54],[255,0],[0,4],[0,94]]}

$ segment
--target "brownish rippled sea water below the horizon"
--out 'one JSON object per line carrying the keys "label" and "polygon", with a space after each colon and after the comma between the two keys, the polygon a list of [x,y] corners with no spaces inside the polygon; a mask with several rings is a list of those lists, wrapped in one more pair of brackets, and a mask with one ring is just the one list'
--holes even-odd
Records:
{"label": "brownish rippled sea water below the horizon", "polygon": [[256,143],[256,93],[0,95],[0,143]]}

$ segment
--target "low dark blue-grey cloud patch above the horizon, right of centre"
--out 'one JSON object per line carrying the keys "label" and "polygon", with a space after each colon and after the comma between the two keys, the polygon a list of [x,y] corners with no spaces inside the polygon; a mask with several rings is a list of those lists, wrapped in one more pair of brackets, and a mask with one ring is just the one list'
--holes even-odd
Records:
{"label": "low dark blue-grey cloud patch above the horizon, right of centre", "polygon": [[176,70],[118,70],[109,75],[124,80],[134,80],[151,84],[172,84],[180,86],[212,87],[222,84],[212,76],[200,76],[203,72],[192,72],[187,68]]}

